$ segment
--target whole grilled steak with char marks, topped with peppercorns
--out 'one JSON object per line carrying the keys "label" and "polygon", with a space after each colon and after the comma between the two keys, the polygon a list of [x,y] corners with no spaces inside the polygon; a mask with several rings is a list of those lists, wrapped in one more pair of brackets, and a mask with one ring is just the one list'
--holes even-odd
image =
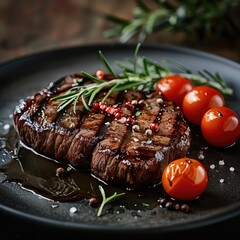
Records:
{"label": "whole grilled steak with char marks, topped with peppercorns", "polygon": [[26,146],[75,168],[90,168],[106,182],[131,187],[159,183],[166,165],[187,154],[190,128],[179,107],[160,93],[116,92],[102,103],[106,92],[100,92],[92,111],[81,98],[58,111],[59,101],[52,97],[77,78],[90,81],[77,74],[63,77],[16,107],[14,127]]}

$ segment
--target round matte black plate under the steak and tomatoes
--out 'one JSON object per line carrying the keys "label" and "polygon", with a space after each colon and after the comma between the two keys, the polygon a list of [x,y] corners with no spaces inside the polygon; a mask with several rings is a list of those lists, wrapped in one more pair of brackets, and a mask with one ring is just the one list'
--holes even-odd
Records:
{"label": "round matte black plate under the steak and tomatoes", "polygon": [[[11,125],[11,114],[19,100],[31,95],[64,75],[82,70],[94,73],[102,68],[98,51],[101,50],[109,62],[132,57],[135,45],[94,45],[43,52],[19,58],[0,66],[0,128],[1,134]],[[240,65],[228,59],[191,49],[172,46],[143,45],[140,55],[155,61],[165,57],[187,66],[193,72],[207,69],[218,72],[227,84],[234,88],[234,96],[228,104],[240,114]],[[116,68],[117,71],[117,68]],[[1,159],[8,158],[1,141]],[[204,195],[191,204],[192,211],[183,213],[169,211],[159,206],[154,209],[119,210],[114,206],[112,212],[98,218],[96,208],[86,201],[55,203],[41,198],[18,184],[3,182],[0,173],[0,210],[13,216],[28,219],[48,226],[77,231],[99,233],[161,233],[177,229],[187,230],[208,224],[218,223],[240,214],[240,144],[231,149],[212,149],[207,154],[209,186]],[[225,165],[219,161],[224,160]],[[210,165],[215,168],[211,169]],[[234,171],[230,171],[234,167]],[[221,183],[221,179],[224,180]],[[70,213],[74,206],[77,212]]]}

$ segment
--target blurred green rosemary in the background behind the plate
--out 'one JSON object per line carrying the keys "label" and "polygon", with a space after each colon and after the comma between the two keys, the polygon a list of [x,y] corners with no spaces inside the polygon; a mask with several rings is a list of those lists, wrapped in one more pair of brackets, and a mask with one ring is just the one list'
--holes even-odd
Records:
{"label": "blurred green rosemary in the background behind the plate", "polygon": [[[168,30],[197,36],[199,40],[210,36],[239,37],[240,28],[234,9],[240,7],[239,0],[135,0],[132,18],[124,19],[106,14],[105,19],[115,24],[104,32],[107,38],[119,37],[128,42],[137,36],[143,42],[148,36]],[[237,17],[237,16],[236,16]],[[189,35],[188,35],[189,37]]]}

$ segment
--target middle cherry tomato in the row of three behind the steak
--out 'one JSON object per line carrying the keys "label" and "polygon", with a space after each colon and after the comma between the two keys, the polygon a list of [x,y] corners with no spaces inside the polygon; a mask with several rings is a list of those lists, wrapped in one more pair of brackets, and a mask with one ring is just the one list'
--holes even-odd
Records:
{"label": "middle cherry tomato in the row of three behind the steak", "polygon": [[213,107],[225,106],[223,95],[210,86],[196,86],[183,98],[182,111],[185,118],[196,125],[201,125],[204,113]]}

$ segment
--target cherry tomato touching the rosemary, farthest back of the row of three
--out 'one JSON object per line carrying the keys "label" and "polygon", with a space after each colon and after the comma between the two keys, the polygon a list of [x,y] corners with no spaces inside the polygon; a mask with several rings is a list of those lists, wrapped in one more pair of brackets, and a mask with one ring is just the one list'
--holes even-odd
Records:
{"label": "cherry tomato touching the rosemary, farthest back of the row of three", "polygon": [[161,92],[168,101],[182,106],[183,97],[193,88],[193,83],[180,75],[171,75],[159,80],[156,91]]}

